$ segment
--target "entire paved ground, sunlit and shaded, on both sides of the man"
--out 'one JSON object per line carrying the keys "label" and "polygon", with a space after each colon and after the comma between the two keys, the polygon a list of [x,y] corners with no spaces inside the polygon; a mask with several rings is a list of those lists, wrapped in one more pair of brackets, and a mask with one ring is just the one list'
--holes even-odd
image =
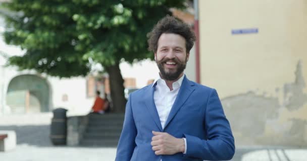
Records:
{"label": "entire paved ground, sunlit and shaded, on both sides of the man", "polygon": [[[0,130],[14,130],[17,147],[0,152],[0,161],[114,160],[116,148],[54,146],[50,142],[52,115],[0,117]],[[237,147],[233,161],[307,161],[307,149]],[[148,160],[149,161],[149,160]]]}

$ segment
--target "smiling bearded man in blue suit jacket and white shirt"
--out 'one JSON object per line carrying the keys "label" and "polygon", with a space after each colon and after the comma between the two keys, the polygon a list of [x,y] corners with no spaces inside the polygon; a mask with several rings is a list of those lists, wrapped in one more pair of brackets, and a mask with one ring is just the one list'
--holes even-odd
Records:
{"label": "smiling bearded man in blue suit jacket and white shirt", "polygon": [[229,160],[234,138],[215,89],[183,73],[195,41],[167,16],[147,35],[159,77],[130,94],[116,160]]}

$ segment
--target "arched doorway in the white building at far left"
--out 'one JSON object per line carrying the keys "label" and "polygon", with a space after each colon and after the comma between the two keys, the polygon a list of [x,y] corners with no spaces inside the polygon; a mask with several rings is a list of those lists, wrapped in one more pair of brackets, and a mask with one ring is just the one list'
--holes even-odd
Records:
{"label": "arched doorway in the white building at far left", "polygon": [[49,86],[37,75],[18,75],[9,84],[6,102],[12,113],[48,112]]}

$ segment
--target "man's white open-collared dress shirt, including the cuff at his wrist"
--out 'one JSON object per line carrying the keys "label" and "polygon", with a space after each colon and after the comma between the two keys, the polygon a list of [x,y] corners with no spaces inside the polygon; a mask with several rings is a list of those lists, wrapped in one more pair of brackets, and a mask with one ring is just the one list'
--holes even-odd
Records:
{"label": "man's white open-collared dress shirt, including the cuff at his wrist", "polygon": [[[159,77],[157,77],[154,81],[154,84],[152,84],[152,88],[154,88],[155,84],[156,89],[154,92],[154,101],[155,105],[159,114],[160,122],[162,125],[162,128],[164,129],[166,120],[171,112],[171,109],[173,107],[173,104],[176,100],[176,97],[178,95],[179,89],[181,87],[182,81],[184,78],[184,74],[173,83],[173,90],[171,91],[170,88],[166,85],[166,82],[164,79],[161,78],[160,74]],[[186,153],[186,139],[184,139],[185,144],[185,150],[184,154]]]}

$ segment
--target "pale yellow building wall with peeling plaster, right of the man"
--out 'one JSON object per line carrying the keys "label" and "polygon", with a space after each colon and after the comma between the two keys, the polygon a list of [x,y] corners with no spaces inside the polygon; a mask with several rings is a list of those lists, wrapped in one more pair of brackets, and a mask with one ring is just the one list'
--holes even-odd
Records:
{"label": "pale yellow building wall with peeling plaster, right of the man", "polygon": [[[199,0],[201,84],[237,145],[307,146],[307,1]],[[257,28],[233,35],[233,29]]]}

